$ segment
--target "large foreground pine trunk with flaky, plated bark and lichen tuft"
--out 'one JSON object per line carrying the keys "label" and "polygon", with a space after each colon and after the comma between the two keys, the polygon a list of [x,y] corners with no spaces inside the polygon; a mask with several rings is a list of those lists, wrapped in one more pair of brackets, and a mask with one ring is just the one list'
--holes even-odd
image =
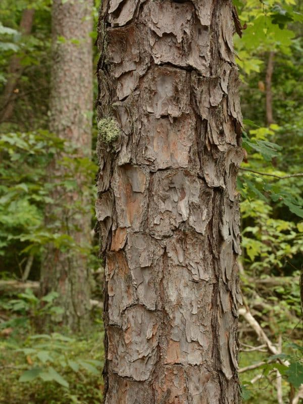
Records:
{"label": "large foreground pine trunk with flaky, plated bark and lichen tuft", "polygon": [[105,0],[98,31],[105,402],[236,404],[232,3]]}

